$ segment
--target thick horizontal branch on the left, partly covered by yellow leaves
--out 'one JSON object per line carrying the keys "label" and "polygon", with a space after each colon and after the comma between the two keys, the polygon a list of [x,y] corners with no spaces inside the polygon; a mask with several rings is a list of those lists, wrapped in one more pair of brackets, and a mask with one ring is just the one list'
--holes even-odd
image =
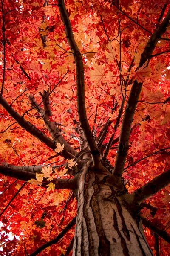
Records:
{"label": "thick horizontal branch on the left, partly covered by yellow leaves", "polygon": [[[7,166],[0,165],[0,174],[24,181],[36,179],[36,173],[34,173],[35,169],[40,169],[39,166],[12,166],[8,164],[6,165]],[[26,169],[29,171],[26,171]],[[40,170],[37,173],[40,173]],[[73,179],[55,179],[50,182],[56,183],[55,189],[76,189],[76,177]],[[42,182],[41,186],[46,187],[46,185],[48,185],[50,182]]]}

